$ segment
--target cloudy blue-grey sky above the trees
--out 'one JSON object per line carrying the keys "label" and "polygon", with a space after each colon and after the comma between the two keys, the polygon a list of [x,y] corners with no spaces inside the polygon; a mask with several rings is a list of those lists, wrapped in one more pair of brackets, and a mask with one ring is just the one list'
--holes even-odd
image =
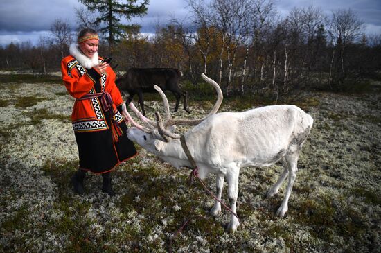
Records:
{"label": "cloudy blue-grey sky above the trees", "polygon": [[[381,34],[381,0],[277,0],[276,10],[281,15],[294,7],[320,7],[326,15],[339,8],[351,8],[364,21],[366,33]],[[75,8],[82,6],[78,0],[1,0],[0,45],[30,40],[36,43],[47,36],[55,19],[67,21],[76,28]],[[189,17],[186,0],[150,0],[148,14],[134,23],[142,26],[143,33],[153,33],[155,24],[166,24],[170,17],[180,21]]]}

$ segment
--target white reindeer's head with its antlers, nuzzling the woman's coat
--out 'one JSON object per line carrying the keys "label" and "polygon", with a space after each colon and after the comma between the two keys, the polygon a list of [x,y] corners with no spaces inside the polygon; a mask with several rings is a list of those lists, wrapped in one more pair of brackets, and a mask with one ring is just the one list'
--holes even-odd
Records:
{"label": "white reindeer's head with its antlers, nuzzling the woman's coat", "polygon": [[175,125],[197,125],[198,123],[204,121],[204,119],[207,119],[209,116],[215,114],[222,103],[222,91],[217,82],[205,76],[204,73],[202,73],[201,76],[206,82],[215,88],[215,91],[218,94],[217,101],[207,116],[202,119],[172,119],[170,116],[169,103],[166,95],[157,85],[154,85],[154,89],[159,92],[161,98],[163,99],[165,119],[162,120],[159,112],[155,112],[157,121],[151,121],[143,116],[143,114],[136,109],[133,103],[130,103],[131,110],[136,114],[136,116],[139,117],[139,119],[141,119],[143,125],[136,123],[136,121],[132,119],[130,114],[124,108],[122,112],[123,116],[127,119],[127,121],[130,121],[130,123],[135,126],[127,130],[128,138],[131,141],[136,141],[136,143],[142,146],[145,150],[152,152],[154,155],[160,155],[161,149],[166,145],[166,143],[172,141],[173,139],[180,138],[180,134],[175,133]]}

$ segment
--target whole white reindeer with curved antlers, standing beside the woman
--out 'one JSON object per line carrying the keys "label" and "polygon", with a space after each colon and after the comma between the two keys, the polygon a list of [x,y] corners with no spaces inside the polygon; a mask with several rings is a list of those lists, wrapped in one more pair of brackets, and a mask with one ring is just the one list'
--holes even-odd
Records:
{"label": "whole white reindeer with curved antlers, standing beside the woman", "polygon": [[[301,147],[312,128],[313,119],[294,105],[272,105],[246,112],[221,112],[215,114],[222,102],[222,91],[218,84],[202,74],[202,78],[213,85],[218,100],[208,116],[196,120],[175,120],[170,118],[168,100],[160,89],[166,112],[166,121],[156,112],[157,122],[150,121],[130,104],[132,110],[145,123],[134,122],[127,110],[123,115],[136,127],[127,130],[127,136],[140,146],[161,157],[176,168],[190,166],[181,148],[179,134],[173,132],[173,125],[195,125],[184,134],[186,144],[195,160],[200,178],[208,173],[217,176],[217,198],[221,200],[224,178],[228,183],[228,198],[231,209],[236,213],[238,197],[238,175],[245,166],[270,166],[281,161],[284,171],[278,181],[267,192],[267,198],[278,193],[278,189],[288,177],[285,198],[276,211],[283,217],[288,209],[288,199],[296,177],[297,162]],[[211,214],[218,215],[221,204],[215,201]],[[239,220],[231,214],[228,230],[236,231]]]}

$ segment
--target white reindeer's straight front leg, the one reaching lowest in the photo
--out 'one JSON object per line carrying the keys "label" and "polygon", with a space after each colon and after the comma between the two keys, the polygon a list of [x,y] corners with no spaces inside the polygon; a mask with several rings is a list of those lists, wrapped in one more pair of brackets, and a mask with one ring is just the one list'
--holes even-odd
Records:
{"label": "white reindeer's straight front leg, the one reaching lowest in the photo", "polygon": [[[237,198],[238,198],[238,176],[240,175],[240,168],[231,168],[231,170],[227,173],[227,183],[228,183],[228,198],[230,202],[231,211],[237,213]],[[227,225],[227,229],[229,232],[235,232],[237,230],[240,222],[238,218],[231,213],[229,225]]]}

